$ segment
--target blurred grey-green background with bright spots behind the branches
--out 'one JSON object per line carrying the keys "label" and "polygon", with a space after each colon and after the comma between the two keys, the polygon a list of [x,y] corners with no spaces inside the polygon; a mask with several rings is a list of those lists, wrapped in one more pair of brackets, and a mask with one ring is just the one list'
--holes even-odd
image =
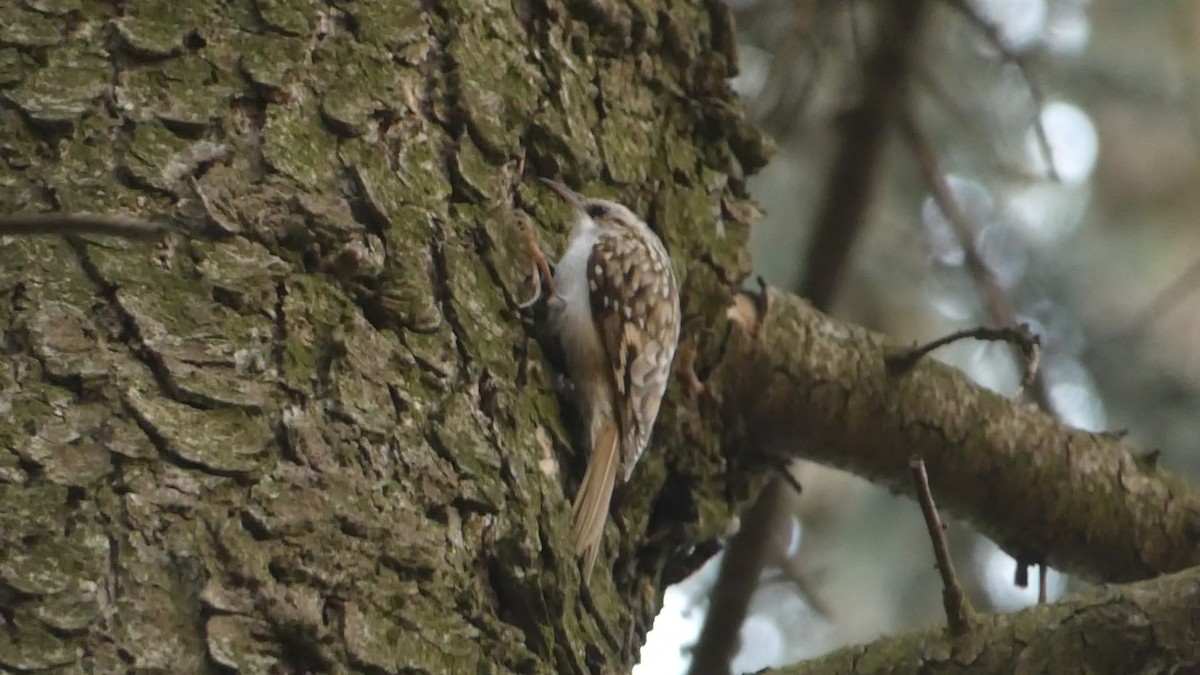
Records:
{"label": "blurred grey-green background with bright spots behind the branches", "polygon": [[[730,5],[732,84],[778,145],[750,181],[766,211],[756,274],[803,292],[877,1]],[[998,293],[1040,338],[1036,387],[1061,420],[1128,430],[1165,468],[1200,474],[1200,2],[932,1],[913,56],[907,107],[990,279],[971,269],[912,144],[893,131],[828,311],[920,342],[996,325]],[[1004,344],[965,340],[935,356],[1003,394],[1024,368]],[[914,502],[815,465],[794,473],[804,490],[787,506],[790,528],[773,533],[734,673],[944,620]],[[991,542],[953,522],[949,542],[977,609],[1037,602],[1036,569],[1019,587],[1015,561]],[[686,671],[720,560],[668,589],[635,675]],[[1046,574],[1050,602],[1078,587]]]}

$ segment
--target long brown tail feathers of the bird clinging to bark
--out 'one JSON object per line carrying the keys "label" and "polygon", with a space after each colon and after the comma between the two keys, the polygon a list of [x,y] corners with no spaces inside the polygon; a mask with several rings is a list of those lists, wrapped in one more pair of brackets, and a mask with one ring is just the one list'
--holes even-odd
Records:
{"label": "long brown tail feathers of the bird clinging to bark", "polygon": [[608,520],[608,503],[612,501],[620,456],[618,441],[617,425],[605,422],[592,444],[583,484],[571,504],[571,514],[575,516],[575,555],[583,561],[584,584],[592,579],[592,568],[600,555],[604,525]]}

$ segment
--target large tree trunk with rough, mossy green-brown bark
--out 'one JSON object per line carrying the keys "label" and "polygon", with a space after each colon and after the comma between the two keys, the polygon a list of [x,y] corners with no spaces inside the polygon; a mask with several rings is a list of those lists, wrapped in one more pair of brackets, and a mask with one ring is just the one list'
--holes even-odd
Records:
{"label": "large tree trunk with rough, mossy green-brown bark", "polygon": [[0,243],[0,664],[628,668],[750,486],[676,383],[581,586],[521,214],[647,214],[715,342],[766,150],[724,5],[668,5],[7,4],[4,211],[187,234]]}

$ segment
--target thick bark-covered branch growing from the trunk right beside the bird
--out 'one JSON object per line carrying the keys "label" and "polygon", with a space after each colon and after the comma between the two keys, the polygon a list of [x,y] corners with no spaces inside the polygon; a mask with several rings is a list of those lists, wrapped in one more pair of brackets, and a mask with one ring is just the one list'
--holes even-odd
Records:
{"label": "thick bark-covered branch growing from the trunk right beside the bird", "polygon": [[1141,466],[1120,438],[1070,429],[923,359],[896,375],[893,346],[767,289],[738,303],[720,396],[727,447],[760,447],[913,494],[920,455],[942,507],[1019,560],[1132,581],[1200,565],[1200,496]]}

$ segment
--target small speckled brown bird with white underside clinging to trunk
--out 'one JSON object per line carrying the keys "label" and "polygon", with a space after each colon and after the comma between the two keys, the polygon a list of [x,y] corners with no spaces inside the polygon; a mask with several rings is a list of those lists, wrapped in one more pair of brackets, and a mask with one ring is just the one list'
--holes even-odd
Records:
{"label": "small speckled brown bird with white underside clinging to trunk", "polygon": [[547,316],[590,453],[571,504],[575,555],[587,584],[617,477],[632,476],[670,381],[679,344],[679,285],[662,240],[634,211],[540,180],[574,211],[566,250],[548,283]]}

